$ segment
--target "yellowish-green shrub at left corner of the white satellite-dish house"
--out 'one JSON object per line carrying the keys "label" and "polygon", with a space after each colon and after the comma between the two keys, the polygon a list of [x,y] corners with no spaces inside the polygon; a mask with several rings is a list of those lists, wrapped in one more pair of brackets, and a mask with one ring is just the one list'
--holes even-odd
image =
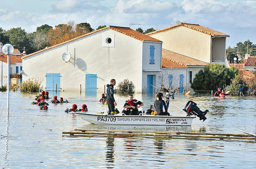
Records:
{"label": "yellowish-green shrub at left corner of the white satellite-dish house", "polygon": [[29,78],[28,81],[22,82],[20,90],[22,92],[40,92],[43,90],[43,87],[41,87],[42,82],[43,79],[36,79],[34,77],[32,79]]}

